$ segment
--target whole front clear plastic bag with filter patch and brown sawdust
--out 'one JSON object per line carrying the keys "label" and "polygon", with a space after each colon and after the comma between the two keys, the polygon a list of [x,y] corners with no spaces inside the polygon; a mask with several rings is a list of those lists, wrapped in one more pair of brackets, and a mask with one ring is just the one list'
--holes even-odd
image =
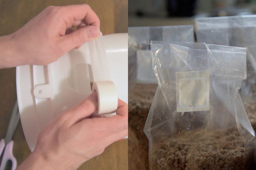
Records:
{"label": "whole front clear plastic bag with filter patch and brown sawdust", "polygon": [[239,94],[246,48],[152,41],[151,51],[150,168],[246,169],[255,137]]}

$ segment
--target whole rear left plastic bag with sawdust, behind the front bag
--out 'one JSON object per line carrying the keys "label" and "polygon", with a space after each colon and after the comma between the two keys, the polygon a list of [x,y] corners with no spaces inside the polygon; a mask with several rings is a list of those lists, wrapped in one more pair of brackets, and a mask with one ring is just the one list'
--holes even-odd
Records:
{"label": "whole rear left plastic bag with sawdust, behind the front bag", "polygon": [[[129,160],[133,169],[148,169],[148,140],[143,132],[152,104],[157,80],[152,69],[151,40],[194,42],[194,28],[190,26],[129,27]],[[133,145],[130,143],[136,143]]]}

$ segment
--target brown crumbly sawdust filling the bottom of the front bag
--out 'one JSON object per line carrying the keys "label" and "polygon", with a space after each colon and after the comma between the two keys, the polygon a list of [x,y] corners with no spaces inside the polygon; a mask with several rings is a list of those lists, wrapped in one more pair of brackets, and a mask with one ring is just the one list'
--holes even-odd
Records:
{"label": "brown crumbly sawdust filling the bottom of the front bag", "polygon": [[244,140],[235,127],[190,130],[162,137],[152,150],[154,170],[244,169]]}

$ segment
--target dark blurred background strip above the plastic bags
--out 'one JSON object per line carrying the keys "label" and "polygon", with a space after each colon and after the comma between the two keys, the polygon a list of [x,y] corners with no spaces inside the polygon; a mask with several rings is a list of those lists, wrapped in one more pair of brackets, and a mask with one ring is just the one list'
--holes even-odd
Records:
{"label": "dark blurred background strip above the plastic bags", "polygon": [[256,0],[129,0],[128,26],[194,24],[198,17],[255,13]]}

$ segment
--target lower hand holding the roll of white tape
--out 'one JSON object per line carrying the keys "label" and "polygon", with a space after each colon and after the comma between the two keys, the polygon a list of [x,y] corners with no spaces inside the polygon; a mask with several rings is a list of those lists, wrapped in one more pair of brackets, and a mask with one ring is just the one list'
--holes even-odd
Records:
{"label": "lower hand holding the roll of white tape", "polygon": [[118,100],[116,115],[89,118],[97,107],[96,96],[93,93],[47,125],[35,150],[17,170],[74,170],[127,136],[128,105]]}

